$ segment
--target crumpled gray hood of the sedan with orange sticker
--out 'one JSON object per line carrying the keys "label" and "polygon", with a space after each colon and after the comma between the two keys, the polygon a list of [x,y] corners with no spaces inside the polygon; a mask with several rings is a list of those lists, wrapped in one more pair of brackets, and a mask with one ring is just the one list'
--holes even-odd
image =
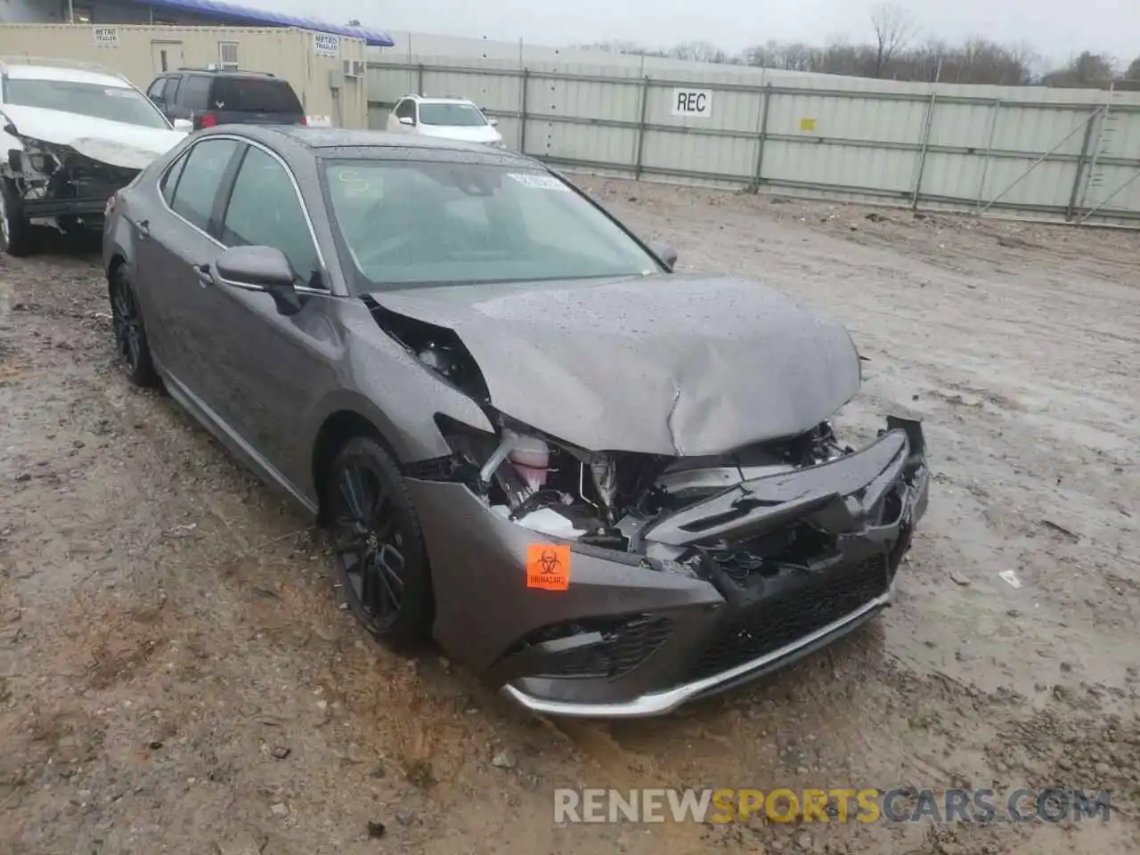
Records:
{"label": "crumpled gray hood of the sedan with orange sticker", "polygon": [[674,274],[370,296],[454,329],[498,410],[594,451],[695,456],[792,437],[860,386],[841,324],[744,279]]}

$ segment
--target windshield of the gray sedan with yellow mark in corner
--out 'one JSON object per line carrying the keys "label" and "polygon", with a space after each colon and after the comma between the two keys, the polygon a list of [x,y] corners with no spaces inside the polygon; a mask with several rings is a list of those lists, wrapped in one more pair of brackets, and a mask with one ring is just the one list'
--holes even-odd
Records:
{"label": "windshield of the gray sedan with yellow mark in corner", "polygon": [[527,166],[326,161],[334,226],[365,288],[644,276],[657,261]]}

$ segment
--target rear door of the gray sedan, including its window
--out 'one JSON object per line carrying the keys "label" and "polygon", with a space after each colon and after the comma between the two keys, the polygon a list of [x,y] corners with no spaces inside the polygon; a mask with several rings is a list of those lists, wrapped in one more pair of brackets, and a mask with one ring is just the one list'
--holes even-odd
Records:
{"label": "rear door of the gray sedan, including its window", "polygon": [[163,206],[139,223],[135,276],[145,279],[150,311],[157,317],[155,356],[177,383],[205,400],[209,353],[203,337],[203,301],[210,264],[220,244],[211,237],[218,221],[219,190],[237,166],[241,144],[213,137],[199,140],[174,161],[161,181]]}

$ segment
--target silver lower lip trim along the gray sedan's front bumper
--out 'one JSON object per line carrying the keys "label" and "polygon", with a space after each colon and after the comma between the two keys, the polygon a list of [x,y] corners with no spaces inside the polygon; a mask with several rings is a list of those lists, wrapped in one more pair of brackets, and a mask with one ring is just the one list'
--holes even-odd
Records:
{"label": "silver lower lip trim along the gray sedan's front bumper", "polygon": [[697,700],[698,698],[717,694],[718,692],[749,683],[765,674],[791,665],[797,659],[814,653],[821,648],[825,648],[889,606],[890,600],[891,591],[888,589],[887,593],[868,601],[855,611],[845,614],[838,620],[820,627],[815,632],[797,638],[795,642],[785,644],[777,650],[769,651],[757,659],[739,665],[735,668],[730,668],[720,674],[714,674],[692,683],[674,686],[663,692],[643,694],[628,701],[575,703],[545,700],[529,695],[510,684],[503,686],[502,691],[527,709],[549,716],[579,718],[645,718],[649,716],[660,716],[671,712],[683,703]]}

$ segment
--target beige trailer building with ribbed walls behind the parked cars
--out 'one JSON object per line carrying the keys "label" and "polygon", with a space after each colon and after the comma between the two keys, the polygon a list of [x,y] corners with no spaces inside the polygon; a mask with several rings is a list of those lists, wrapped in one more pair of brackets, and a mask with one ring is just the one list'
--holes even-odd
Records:
{"label": "beige trailer building with ribbed walls behind the parked cars", "polygon": [[368,127],[364,39],[300,27],[6,24],[0,55],[99,63],[142,90],[181,67],[268,72],[290,82],[311,124]]}

